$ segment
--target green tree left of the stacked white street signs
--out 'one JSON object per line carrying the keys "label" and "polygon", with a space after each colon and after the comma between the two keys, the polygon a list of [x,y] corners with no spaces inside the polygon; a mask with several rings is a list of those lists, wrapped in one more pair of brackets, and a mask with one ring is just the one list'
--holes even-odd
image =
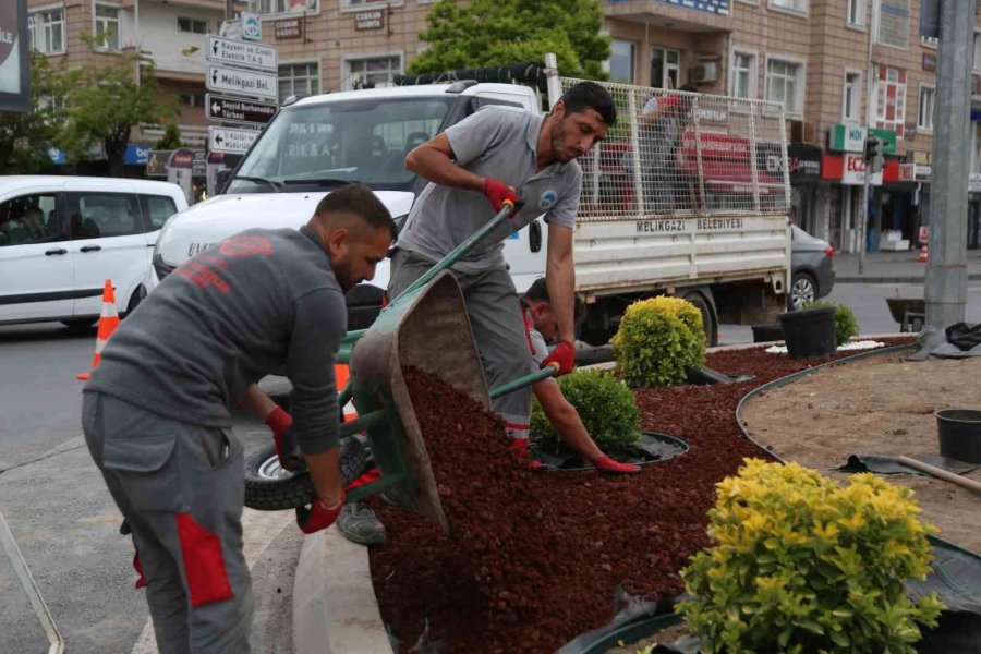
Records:
{"label": "green tree left of the stacked white street signs", "polygon": [[[90,37],[85,40],[95,44]],[[100,142],[109,175],[122,177],[131,130],[141,123],[165,122],[175,108],[161,107],[155,98],[154,63],[138,50],[102,57],[105,65],[69,72],[69,120],[59,141],[70,161],[87,158],[93,143]]]}

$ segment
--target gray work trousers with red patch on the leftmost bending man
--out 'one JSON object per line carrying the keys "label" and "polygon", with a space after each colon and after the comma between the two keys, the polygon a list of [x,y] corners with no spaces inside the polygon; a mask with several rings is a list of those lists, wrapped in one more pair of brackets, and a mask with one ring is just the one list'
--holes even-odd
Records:
{"label": "gray work trousers with red patch on the leftmost bending man", "polygon": [[84,395],[82,428],[133,532],[160,654],[247,653],[253,596],[238,438],[98,392]]}

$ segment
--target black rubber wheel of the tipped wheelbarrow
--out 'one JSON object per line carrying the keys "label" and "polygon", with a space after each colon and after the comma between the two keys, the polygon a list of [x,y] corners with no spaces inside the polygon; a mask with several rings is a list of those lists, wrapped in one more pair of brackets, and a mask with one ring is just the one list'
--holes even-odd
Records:
{"label": "black rubber wheel of the tipped wheelbarrow", "polygon": [[290,472],[279,467],[276,446],[245,458],[245,506],[257,511],[282,511],[306,506],[317,496],[306,470]]}

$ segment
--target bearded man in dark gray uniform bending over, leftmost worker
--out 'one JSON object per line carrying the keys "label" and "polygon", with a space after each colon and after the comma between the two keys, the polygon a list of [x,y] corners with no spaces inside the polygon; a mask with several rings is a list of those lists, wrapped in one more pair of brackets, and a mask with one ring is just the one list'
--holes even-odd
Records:
{"label": "bearded man in dark gray uniform bending over, leftmost worker", "polygon": [[[160,654],[250,649],[233,407],[265,419],[278,446],[292,428],[317,494],[298,509],[300,528],[336,520],[344,292],[374,276],[396,233],[368,187],[344,186],[299,231],[247,230],[186,262],[109,340],[83,391],[82,423],[132,530]],[[255,386],[272,371],[292,383],[292,416]]]}

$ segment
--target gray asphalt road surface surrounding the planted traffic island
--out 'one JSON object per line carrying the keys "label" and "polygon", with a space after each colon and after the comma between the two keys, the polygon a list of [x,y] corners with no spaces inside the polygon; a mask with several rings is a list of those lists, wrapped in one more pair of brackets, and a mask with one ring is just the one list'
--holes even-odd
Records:
{"label": "gray asphalt road surface surrounding the planted traffic island", "polygon": [[[863,334],[898,330],[884,298],[895,284],[839,284],[831,300],[856,313]],[[922,296],[921,286],[898,287]],[[981,287],[969,290],[968,322],[981,322]],[[748,326],[723,325],[723,343],[751,342]],[[48,603],[72,654],[129,654],[147,625],[143,592],[133,589],[132,549],[119,535],[120,517],[81,437],[82,383],[92,363],[95,330],[60,325],[0,327],[0,511]],[[246,451],[268,432],[242,417],[235,432]],[[253,568],[258,653],[288,651],[292,570],[301,537],[290,517],[269,530]],[[44,651],[43,633],[0,553],[0,652]],[[141,650],[137,647],[136,650]]]}

